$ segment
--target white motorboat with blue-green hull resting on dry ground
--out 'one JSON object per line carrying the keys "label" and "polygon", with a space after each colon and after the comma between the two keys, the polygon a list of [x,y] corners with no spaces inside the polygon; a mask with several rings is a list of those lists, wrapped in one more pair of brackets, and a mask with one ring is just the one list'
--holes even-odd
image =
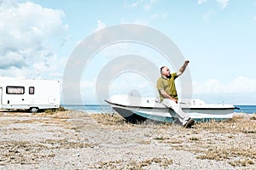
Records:
{"label": "white motorboat with blue-green hull resting on dry ground", "polygon": [[[105,101],[128,122],[178,122],[175,111],[161,104],[158,98],[117,94]],[[206,104],[201,99],[180,99],[178,105],[197,122],[228,120],[239,109],[228,104]]]}

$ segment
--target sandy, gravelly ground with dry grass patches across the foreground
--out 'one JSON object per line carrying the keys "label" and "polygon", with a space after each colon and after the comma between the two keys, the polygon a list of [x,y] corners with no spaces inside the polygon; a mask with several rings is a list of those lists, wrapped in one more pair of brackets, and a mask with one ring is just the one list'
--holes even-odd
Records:
{"label": "sandy, gravelly ground with dry grass patches across the foreground", "polygon": [[0,169],[253,169],[256,115],[131,124],[117,114],[0,112]]}

